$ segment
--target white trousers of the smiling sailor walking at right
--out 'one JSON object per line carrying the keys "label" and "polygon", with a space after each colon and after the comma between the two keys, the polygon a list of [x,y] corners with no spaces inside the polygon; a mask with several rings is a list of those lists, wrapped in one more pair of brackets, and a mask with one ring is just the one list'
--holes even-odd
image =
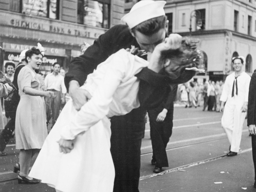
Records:
{"label": "white trousers of the smiling sailor walking at right", "polygon": [[246,112],[242,112],[244,102],[237,101],[238,100],[235,102],[226,102],[221,118],[221,126],[225,130],[231,145],[230,151],[236,153],[239,151],[246,116]]}

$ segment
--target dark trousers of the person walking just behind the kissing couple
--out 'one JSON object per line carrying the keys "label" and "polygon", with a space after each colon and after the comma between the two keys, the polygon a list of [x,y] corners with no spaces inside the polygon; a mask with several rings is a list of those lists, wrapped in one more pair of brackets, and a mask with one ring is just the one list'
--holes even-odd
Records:
{"label": "dark trousers of the person walking just behind the kissing couple", "polygon": [[172,135],[173,120],[173,102],[168,109],[163,122],[156,122],[156,118],[163,107],[148,110],[150,124],[150,138],[153,149],[153,159],[156,160],[157,167],[168,167],[168,158],[166,154],[166,146]]}

